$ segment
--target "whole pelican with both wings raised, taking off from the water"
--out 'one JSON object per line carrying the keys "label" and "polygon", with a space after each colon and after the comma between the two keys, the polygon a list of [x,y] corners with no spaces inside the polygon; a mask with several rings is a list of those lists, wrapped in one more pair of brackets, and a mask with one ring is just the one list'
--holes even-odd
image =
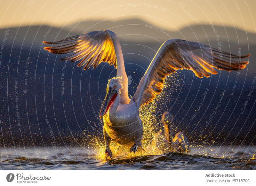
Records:
{"label": "whole pelican with both wings raised, taking off from the water", "polygon": [[250,56],[250,54],[237,56],[201,43],[181,39],[167,40],[156,52],[135,94],[130,99],[123,53],[114,32],[104,29],[85,32],[60,41],[43,41],[43,43],[51,44],[49,47],[44,47],[49,52],[71,53],[60,60],[79,61],[77,66],[83,66],[84,70],[90,67],[96,68],[101,62],[107,62],[117,69],[116,77],[108,80],[106,97],[99,113],[100,119],[103,118],[104,122],[106,159],[113,156],[109,148],[111,141],[131,147],[129,152],[133,153],[142,148],[143,126],[139,108],[152,102],[162,91],[166,76],[183,69],[191,70],[199,78],[217,74],[214,69],[241,70],[249,62],[237,61],[238,58]]}

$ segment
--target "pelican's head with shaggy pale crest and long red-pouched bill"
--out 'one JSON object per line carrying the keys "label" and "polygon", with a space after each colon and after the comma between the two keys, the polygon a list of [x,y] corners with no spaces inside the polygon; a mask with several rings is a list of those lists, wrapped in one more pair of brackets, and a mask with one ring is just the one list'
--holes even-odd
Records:
{"label": "pelican's head with shaggy pale crest and long red-pouched bill", "polygon": [[119,90],[122,88],[122,77],[111,78],[108,80],[107,94],[100,109],[100,119],[108,112],[109,107],[113,104],[117,94],[119,94]]}

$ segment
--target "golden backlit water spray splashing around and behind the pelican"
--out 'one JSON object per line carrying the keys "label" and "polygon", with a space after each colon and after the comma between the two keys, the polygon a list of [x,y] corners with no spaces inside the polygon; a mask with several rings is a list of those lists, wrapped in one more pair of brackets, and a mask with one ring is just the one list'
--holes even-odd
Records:
{"label": "golden backlit water spray splashing around and behind the pelican", "polygon": [[[178,77],[178,74],[168,76],[165,79],[162,93],[158,94],[152,103],[140,108],[140,118],[143,123],[144,131],[141,142],[143,149],[145,149],[150,155],[160,155],[165,152],[179,151],[178,148],[170,148],[168,145],[169,142],[165,139],[162,132],[163,124],[160,122],[160,118],[164,112],[164,107],[163,110],[159,110],[159,105],[167,103],[169,99],[172,99],[171,93],[173,91],[177,91],[179,86],[178,82],[180,81]],[[97,154],[96,156],[98,159],[105,159],[105,145],[103,141],[104,140],[101,140],[99,137],[94,136],[90,144],[93,147],[92,151]],[[135,154],[129,153],[129,147],[119,145],[115,142],[111,142],[110,149],[115,158],[131,158],[135,156],[148,155],[142,150],[138,150]]]}

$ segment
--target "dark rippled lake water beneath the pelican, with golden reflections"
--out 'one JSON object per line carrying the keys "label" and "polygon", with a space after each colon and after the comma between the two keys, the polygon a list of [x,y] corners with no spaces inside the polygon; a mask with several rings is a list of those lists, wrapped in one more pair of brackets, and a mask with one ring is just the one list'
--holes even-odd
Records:
{"label": "dark rippled lake water beneath the pelican, with golden reflections", "polygon": [[93,147],[1,147],[0,170],[256,170],[254,146],[191,147],[187,154],[122,152],[106,161],[102,149]]}

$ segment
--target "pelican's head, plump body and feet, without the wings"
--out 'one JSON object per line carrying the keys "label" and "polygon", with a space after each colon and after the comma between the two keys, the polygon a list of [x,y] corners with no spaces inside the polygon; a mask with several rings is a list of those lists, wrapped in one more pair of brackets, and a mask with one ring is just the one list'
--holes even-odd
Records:
{"label": "pelican's head, plump body and feet, without the wings", "polygon": [[[108,82],[107,95],[100,110],[100,118],[103,116],[104,122],[104,139],[106,148],[109,148],[113,140],[121,145],[131,146],[130,151],[135,152],[136,148],[142,147],[140,140],[143,126],[134,102],[129,100],[129,104],[120,103],[120,89],[123,85],[121,80],[121,77],[117,77]],[[110,150],[106,153],[112,156]]]}

